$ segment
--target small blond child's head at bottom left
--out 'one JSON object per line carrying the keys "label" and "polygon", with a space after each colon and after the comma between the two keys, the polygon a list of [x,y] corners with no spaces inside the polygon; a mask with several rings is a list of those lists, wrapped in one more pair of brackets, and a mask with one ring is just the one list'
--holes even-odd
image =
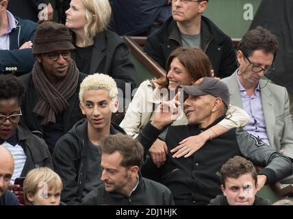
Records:
{"label": "small blond child's head at bottom left", "polygon": [[60,205],[62,188],[59,175],[50,168],[31,170],[23,182],[25,205]]}

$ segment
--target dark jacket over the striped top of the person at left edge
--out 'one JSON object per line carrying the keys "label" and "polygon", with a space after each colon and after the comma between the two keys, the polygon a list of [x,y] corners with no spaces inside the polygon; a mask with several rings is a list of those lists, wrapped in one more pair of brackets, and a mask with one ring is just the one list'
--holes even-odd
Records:
{"label": "dark jacket over the striped top of the person at left edge", "polygon": [[23,171],[21,172],[21,177],[25,177],[29,170],[41,166],[47,166],[53,170],[51,154],[44,140],[35,136],[24,125],[18,124],[16,130],[18,141],[21,143],[23,151],[25,151],[25,155],[27,156],[25,166],[23,166]]}

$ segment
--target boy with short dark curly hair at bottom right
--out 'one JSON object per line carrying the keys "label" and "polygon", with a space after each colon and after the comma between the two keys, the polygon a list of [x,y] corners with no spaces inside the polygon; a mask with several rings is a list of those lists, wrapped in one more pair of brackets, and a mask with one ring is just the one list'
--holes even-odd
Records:
{"label": "boy with short dark curly hair at bottom right", "polygon": [[270,205],[257,193],[257,172],[253,164],[244,157],[230,158],[220,168],[223,194],[216,196],[209,205]]}

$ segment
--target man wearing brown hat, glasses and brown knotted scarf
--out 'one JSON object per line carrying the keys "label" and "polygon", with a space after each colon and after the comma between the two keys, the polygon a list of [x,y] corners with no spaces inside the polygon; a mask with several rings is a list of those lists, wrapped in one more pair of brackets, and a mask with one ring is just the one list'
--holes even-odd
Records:
{"label": "man wearing brown hat, glasses and brown knotted scarf", "polygon": [[55,142],[84,118],[79,109],[79,84],[86,77],[71,59],[71,34],[67,27],[45,22],[36,30],[31,73],[23,75],[27,87],[22,122],[40,131],[51,153]]}

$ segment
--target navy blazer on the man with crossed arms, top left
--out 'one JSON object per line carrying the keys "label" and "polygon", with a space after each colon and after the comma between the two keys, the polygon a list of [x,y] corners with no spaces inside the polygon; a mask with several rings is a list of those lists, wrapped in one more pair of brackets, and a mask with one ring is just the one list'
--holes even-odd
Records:
{"label": "navy blazer on the man with crossed arms, top left", "polygon": [[36,59],[32,49],[19,49],[27,41],[34,43],[37,23],[15,18],[16,28],[9,34],[10,50],[0,50],[0,73],[16,71],[17,75],[29,73]]}

